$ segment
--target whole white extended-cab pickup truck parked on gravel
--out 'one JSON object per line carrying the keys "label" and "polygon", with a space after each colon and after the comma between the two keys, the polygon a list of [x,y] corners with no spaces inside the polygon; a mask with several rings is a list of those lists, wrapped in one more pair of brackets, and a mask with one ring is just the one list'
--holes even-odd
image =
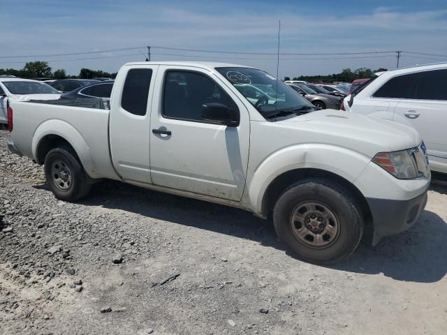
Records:
{"label": "whole white extended-cab pickup truck parked on gravel", "polygon": [[44,164],[61,200],[115,179],[240,207],[272,215],[279,238],[310,262],[346,258],[364,228],[373,243],[410,228],[427,201],[430,169],[413,128],[316,110],[256,68],[131,63],[110,110],[11,102],[8,113],[10,151]]}

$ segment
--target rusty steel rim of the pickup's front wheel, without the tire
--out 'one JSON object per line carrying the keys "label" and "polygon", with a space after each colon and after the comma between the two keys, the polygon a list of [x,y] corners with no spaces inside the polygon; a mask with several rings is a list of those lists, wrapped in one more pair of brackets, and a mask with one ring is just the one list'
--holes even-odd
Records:
{"label": "rusty steel rim of the pickup's front wheel, without the tire", "polygon": [[295,238],[310,248],[328,248],[337,241],[339,219],[334,211],[321,202],[301,202],[291,215]]}

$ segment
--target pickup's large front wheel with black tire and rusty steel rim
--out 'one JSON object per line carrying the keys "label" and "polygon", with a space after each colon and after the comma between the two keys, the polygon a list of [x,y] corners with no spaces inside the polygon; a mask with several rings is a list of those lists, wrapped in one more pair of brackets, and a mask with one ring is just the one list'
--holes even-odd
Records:
{"label": "pickup's large front wheel with black tire and rusty steel rim", "polygon": [[[323,232],[314,234],[309,230],[318,230],[318,221],[312,220],[312,224],[315,223],[317,227],[308,223],[312,210],[307,214],[307,204],[312,204],[309,208],[316,208],[317,216],[318,213],[324,213],[324,216],[330,217],[327,220],[318,216],[318,220],[323,218],[325,223]],[[318,204],[321,206],[318,207]],[[356,250],[364,227],[360,214],[360,206],[342,186],[325,179],[305,179],[293,184],[279,197],[273,210],[273,223],[279,239],[298,258],[307,262],[330,264],[347,258]],[[306,215],[309,217],[305,218]],[[331,223],[332,218],[337,220],[336,224]],[[326,229],[329,228],[331,231],[337,229],[337,233],[331,232],[332,237],[327,233]],[[304,236],[305,233],[308,234]],[[312,245],[317,241],[325,245]]]}

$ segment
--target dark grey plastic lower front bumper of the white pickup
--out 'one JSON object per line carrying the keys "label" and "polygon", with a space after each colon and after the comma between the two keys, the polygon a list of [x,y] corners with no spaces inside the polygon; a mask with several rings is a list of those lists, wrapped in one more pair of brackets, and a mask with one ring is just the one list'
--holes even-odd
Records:
{"label": "dark grey plastic lower front bumper of the white pickup", "polygon": [[398,234],[411,228],[427,204],[427,189],[410,200],[367,198],[374,224],[373,245],[382,237]]}

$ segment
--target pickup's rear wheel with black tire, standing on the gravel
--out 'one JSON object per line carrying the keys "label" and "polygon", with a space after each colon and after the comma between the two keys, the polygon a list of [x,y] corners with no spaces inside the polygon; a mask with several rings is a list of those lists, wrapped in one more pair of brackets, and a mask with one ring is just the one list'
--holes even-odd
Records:
{"label": "pickup's rear wheel with black tire, standing on the gravel", "polygon": [[[68,171],[69,181],[61,181],[57,175],[55,178],[52,168],[64,165]],[[50,150],[45,156],[45,179],[52,193],[59,200],[74,202],[84,198],[90,191],[91,184],[88,182],[87,174],[79,161],[78,156],[71,147],[61,146]],[[60,181],[58,185],[58,180]],[[61,186],[64,184],[64,188]]]}

